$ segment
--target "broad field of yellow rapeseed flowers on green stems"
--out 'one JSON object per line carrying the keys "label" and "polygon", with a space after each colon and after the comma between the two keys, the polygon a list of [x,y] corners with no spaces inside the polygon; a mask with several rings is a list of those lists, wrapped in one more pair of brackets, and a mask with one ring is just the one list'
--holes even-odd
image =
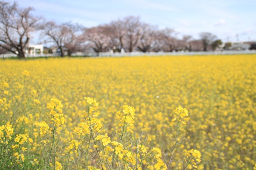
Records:
{"label": "broad field of yellow rapeseed flowers on green stems", "polygon": [[0,60],[0,161],[256,169],[256,55]]}

